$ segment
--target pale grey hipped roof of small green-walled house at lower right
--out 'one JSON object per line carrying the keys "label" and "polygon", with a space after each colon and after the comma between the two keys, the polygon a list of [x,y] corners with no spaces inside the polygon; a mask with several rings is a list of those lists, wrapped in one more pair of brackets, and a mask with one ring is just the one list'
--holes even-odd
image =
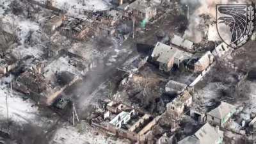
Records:
{"label": "pale grey hipped roof of small green-walled house at lower right", "polygon": [[220,106],[218,106],[215,109],[212,109],[208,115],[214,116],[215,118],[219,118],[222,120],[222,118],[225,118],[228,113],[235,111],[236,106],[233,106],[232,104],[228,104],[227,102],[221,102]]}

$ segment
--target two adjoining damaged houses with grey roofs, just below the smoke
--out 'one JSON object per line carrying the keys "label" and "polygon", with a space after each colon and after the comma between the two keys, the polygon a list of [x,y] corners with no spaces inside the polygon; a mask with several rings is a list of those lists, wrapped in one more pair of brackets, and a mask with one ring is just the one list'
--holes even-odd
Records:
{"label": "two adjoining damaged houses with grey roofs, just below the smoke", "polygon": [[170,72],[173,66],[184,65],[192,72],[202,72],[214,62],[214,56],[210,51],[190,52],[182,51],[179,47],[157,42],[152,58],[159,63],[159,70]]}

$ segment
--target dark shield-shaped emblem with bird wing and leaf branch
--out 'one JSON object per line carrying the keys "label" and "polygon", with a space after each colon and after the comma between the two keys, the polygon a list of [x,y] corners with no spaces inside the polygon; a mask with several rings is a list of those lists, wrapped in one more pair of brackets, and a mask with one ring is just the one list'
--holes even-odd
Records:
{"label": "dark shield-shaped emblem with bird wing and leaf branch", "polygon": [[236,49],[248,42],[254,31],[254,6],[248,4],[217,4],[216,26],[227,45]]}

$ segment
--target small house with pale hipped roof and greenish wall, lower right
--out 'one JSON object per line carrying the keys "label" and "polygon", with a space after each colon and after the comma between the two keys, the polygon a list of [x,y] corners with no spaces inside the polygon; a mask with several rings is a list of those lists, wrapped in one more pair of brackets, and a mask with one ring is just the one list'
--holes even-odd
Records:
{"label": "small house with pale hipped roof and greenish wall, lower right", "polygon": [[227,102],[221,102],[220,106],[207,113],[207,122],[224,127],[225,123],[236,111],[236,106]]}

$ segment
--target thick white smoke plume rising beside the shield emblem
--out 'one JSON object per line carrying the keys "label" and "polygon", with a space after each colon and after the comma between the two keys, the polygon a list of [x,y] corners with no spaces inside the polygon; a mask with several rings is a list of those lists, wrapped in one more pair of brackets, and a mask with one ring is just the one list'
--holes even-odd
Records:
{"label": "thick white smoke plume rising beside the shield emblem", "polygon": [[[184,33],[184,38],[188,38],[189,40],[199,43],[204,38],[205,34],[207,34],[207,40],[211,41],[219,41],[220,37],[218,36],[218,31],[216,29],[216,4],[246,4],[249,3],[247,0],[181,0],[182,4],[186,4],[189,6],[191,10],[189,16],[189,26],[188,29]],[[199,15],[209,15],[211,17],[210,21],[207,22],[209,24],[208,28],[205,28],[204,19],[200,18]],[[207,33],[206,33],[207,32]]]}

